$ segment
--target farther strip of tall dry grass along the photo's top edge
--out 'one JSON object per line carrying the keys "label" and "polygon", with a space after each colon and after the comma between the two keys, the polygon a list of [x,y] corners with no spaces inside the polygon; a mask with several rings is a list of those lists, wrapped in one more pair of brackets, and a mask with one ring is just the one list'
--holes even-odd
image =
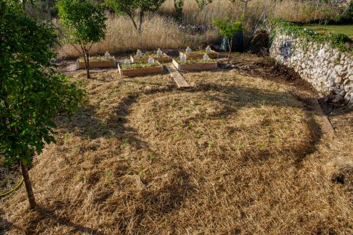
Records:
{"label": "farther strip of tall dry grass along the photo's top edge", "polygon": [[[160,12],[174,15],[173,0],[167,0],[160,8]],[[315,18],[317,1],[249,1],[247,17],[251,22],[261,19],[263,12],[266,18],[282,18],[291,21],[310,21]],[[212,24],[215,18],[225,18],[227,14],[234,18],[240,18],[244,4],[238,1],[237,4],[232,4],[229,0],[215,0],[212,4],[205,6],[203,11],[198,9],[198,6],[193,0],[185,0],[183,9],[184,22],[191,24]],[[327,18],[332,19],[340,15],[345,10],[344,6],[338,4],[329,4],[321,2],[316,14],[316,19]]]}

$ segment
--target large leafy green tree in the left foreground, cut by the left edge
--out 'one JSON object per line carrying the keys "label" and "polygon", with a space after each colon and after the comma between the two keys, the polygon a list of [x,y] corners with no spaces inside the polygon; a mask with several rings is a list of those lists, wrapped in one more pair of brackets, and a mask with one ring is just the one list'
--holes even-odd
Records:
{"label": "large leafy green tree in the left foreground, cut by the left edge", "polygon": [[55,142],[53,119],[71,116],[85,96],[80,84],[54,71],[55,43],[52,28],[0,0],[0,155],[20,164],[30,209],[36,203],[28,166]]}

